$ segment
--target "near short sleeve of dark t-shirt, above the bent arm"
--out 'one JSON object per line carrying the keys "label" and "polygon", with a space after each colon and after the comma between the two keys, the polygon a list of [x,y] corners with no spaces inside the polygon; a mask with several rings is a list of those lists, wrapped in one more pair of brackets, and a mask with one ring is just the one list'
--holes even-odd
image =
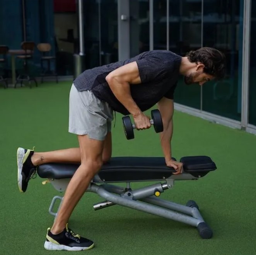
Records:
{"label": "near short sleeve of dark t-shirt, above the bent arm", "polygon": [[164,73],[173,69],[172,63],[166,60],[164,54],[147,54],[136,62],[142,83],[158,80]]}

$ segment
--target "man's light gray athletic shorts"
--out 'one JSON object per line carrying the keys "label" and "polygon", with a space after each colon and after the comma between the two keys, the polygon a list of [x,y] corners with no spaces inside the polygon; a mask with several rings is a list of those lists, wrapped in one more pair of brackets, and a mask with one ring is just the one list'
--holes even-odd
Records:
{"label": "man's light gray athletic shorts", "polygon": [[72,84],[68,132],[103,141],[111,131],[112,120],[113,110],[108,103],[99,100],[90,90],[78,91]]}

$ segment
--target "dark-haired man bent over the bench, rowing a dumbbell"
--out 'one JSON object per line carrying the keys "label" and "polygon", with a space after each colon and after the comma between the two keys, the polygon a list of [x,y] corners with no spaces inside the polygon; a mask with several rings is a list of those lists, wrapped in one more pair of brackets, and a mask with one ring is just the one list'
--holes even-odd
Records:
{"label": "dark-haired man bent over the bench, rowing a dumbbell", "polygon": [[94,243],[68,228],[68,219],[94,175],[111,157],[113,111],[131,114],[137,129],[147,129],[150,121],[143,111],[158,104],[164,131],[160,142],[166,165],[179,174],[182,163],[171,158],[173,94],[180,75],[186,84],[224,77],[225,56],[217,49],[201,48],[181,57],[171,51],[147,51],[84,71],[70,90],[69,132],[77,134],[80,148],[50,152],[17,151],[18,184],[25,192],[36,167],[49,162],[80,163],[68,184],[52,228],[48,228],[46,250],[86,250]]}

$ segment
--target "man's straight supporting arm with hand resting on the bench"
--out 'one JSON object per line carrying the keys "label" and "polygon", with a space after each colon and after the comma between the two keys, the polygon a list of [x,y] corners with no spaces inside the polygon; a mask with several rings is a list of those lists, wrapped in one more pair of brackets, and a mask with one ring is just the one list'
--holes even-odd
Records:
{"label": "man's straight supporting arm with hand resting on the bench", "polygon": [[173,133],[172,116],[174,112],[173,105],[174,105],[173,100],[167,99],[166,97],[163,97],[158,102],[158,109],[162,116],[162,122],[164,126],[163,132],[160,133],[160,142],[161,142],[162,150],[164,153],[166,165],[168,167],[173,167],[176,170],[176,173],[174,174],[178,174],[178,173],[181,173],[183,164],[172,160],[172,156],[171,156],[172,155],[171,139],[172,139],[172,133]]}

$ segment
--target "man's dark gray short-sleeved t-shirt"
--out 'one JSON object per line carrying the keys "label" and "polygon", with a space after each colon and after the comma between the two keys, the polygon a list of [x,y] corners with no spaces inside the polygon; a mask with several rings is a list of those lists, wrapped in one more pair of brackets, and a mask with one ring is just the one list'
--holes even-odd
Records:
{"label": "man's dark gray short-sleeved t-shirt", "polygon": [[116,99],[105,77],[133,61],[137,62],[142,83],[131,84],[131,97],[142,111],[154,106],[162,97],[173,99],[181,56],[167,50],[146,51],[125,61],[85,70],[75,79],[74,85],[78,91],[91,90],[97,98],[108,102],[113,110],[127,115],[128,110]]}

